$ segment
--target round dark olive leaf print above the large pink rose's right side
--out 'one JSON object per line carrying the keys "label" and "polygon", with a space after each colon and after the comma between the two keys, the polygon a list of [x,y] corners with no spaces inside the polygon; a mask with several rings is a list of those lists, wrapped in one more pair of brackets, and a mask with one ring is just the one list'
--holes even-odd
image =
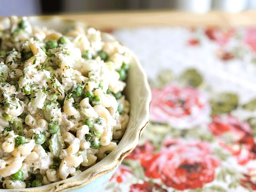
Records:
{"label": "round dark olive leaf print above the large pink rose's right side", "polygon": [[188,69],[179,78],[184,86],[198,87],[203,82],[202,76],[195,69]]}

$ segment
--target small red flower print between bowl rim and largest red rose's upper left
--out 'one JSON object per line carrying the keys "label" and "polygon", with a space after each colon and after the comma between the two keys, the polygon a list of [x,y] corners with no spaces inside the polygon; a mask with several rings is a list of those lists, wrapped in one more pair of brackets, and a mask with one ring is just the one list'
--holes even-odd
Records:
{"label": "small red flower print between bowl rim and largest red rose's upper left", "polygon": [[150,154],[154,151],[154,147],[150,144],[149,141],[146,141],[144,145],[137,146],[127,157],[126,159],[141,159],[143,156]]}

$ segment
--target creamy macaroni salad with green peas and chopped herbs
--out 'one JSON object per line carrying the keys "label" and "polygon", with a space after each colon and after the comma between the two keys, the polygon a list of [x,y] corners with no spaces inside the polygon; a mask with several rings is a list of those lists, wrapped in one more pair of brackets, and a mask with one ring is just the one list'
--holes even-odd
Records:
{"label": "creamy macaroni salad with green peas and chopped herbs", "polygon": [[114,150],[129,120],[128,49],[92,27],[0,26],[0,188],[66,179]]}

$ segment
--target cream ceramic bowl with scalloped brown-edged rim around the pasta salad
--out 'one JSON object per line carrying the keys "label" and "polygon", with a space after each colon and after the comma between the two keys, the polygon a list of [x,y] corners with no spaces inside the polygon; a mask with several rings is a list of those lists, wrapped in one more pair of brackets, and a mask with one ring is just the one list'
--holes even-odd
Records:
{"label": "cream ceramic bowl with scalloped brown-edged rim around the pasta salad", "polygon": [[[64,32],[72,26],[81,25],[81,23],[63,20],[58,17],[29,17],[28,20],[32,26],[46,26],[60,32]],[[0,24],[7,28],[9,21],[6,18]],[[106,33],[102,33],[102,39],[109,42],[115,40],[113,36]],[[66,192],[73,190],[76,192],[96,192],[103,184],[108,182],[122,160],[138,144],[138,140],[149,120],[151,93],[146,74],[136,56],[132,52],[130,54],[132,57],[126,79],[127,86],[124,90],[124,94],[130,102],[130,120],[117,148],[103,160],[76,176],[45,186],[26,189],[4,189],[1,190],[2,192]]]}

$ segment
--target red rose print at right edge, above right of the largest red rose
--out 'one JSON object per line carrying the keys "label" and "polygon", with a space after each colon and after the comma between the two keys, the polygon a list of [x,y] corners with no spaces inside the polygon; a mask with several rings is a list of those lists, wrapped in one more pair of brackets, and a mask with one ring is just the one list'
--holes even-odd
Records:
{"label": "red rose print at right edge, above right of the largest red rose", "polygon": [[236,156],[239,164],[246,164],[249,160],[256,159],[256,144],[247,122],[240,122],[231,115],[213,116],[209,129],[216,136],[222,136],[228,132],[232,134],[232,144],[224,142],[220,144]]}

